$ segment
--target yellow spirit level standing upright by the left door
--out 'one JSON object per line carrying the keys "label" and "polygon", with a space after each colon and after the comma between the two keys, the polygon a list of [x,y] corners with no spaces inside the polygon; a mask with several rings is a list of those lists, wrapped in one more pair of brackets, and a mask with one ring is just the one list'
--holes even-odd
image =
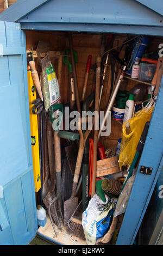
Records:
{"label": "yellow spirit level standing upright by the left door", "polygon": [[29,116],[30,116],[30,135],[32,143],[32,158],[33,158],[33,173],[35,192],[38,192],[41,187],[40,179],[40,156],[39,156],[39,136],[37,126],[37,115],[32,113],[32,102],[36,100],[36,89],[34,86],[30,66],[27,70],[28,74],[28,95],[29,95]]}

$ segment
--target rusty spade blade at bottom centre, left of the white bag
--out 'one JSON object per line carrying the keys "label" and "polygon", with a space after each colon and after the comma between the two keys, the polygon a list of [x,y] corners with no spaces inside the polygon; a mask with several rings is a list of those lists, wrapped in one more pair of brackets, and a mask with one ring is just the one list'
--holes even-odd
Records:
{"label": "rusty spade blade at bottom centre, left of the white bag", "polygon": [[78,197],[70,198],[64,202],[64,225],[67,225],[68,220],[73,215],[78,206]]}

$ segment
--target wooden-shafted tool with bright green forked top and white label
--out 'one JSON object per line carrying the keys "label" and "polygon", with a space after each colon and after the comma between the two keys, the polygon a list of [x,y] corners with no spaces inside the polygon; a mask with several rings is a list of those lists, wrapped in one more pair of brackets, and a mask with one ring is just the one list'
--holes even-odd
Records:
{"label": "wooden-shafted tool with bright green forked top and white label", "polygon": [[[68,54],[70,54],[69,49],[65,49],[65,56],[64,56],[64,63],[68,66],[68,71],[69,71],[69,77],[70,77],[70,109],[74,108],[74,103],[76,100],[75,97],[75,92],[74,92],[74,78],[73,78],[73,71],[72,71],[72,64],[68,60]],[[74,51],[74,63],[78,63],[78,54],[76,51]]]}

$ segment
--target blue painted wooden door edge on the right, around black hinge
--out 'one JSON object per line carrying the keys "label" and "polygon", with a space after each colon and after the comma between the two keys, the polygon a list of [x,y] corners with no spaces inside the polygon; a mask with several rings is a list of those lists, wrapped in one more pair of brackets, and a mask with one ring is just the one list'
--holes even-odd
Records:
{"label": "blue painted wooden door edge on the right, around black hinge", "polygon": [[[163,169],[162,97],[163,77],[116,245],[132,245],[134,243],[156,181]],[[153,168],[152,174],[144,175],[140,173],[141,166]]]}

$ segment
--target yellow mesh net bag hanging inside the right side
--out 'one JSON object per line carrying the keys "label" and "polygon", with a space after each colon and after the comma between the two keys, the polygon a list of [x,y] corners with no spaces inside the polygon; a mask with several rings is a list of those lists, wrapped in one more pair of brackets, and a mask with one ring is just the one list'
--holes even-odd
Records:
{"label": "yellow mesh net bag hanging inside the right side", "polygon": [[[154,106],[148,104],[145,108],[134,114],[134,117],[126,121],[122,126],[122,142],[119,157],[120,168],[130,166],[135,153],[136,147],[141,137],[141,133],[147,121],[151,120]],[[129,123],[129,124],[128,124]],[[128,124],[126,127],[126,124]]]}

